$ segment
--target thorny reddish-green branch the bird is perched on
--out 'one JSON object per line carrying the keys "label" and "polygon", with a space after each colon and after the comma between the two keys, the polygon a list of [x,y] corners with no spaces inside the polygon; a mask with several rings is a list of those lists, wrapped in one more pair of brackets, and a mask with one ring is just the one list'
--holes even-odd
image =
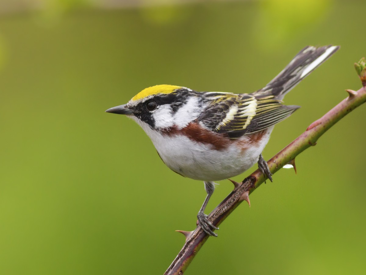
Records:
{"label": "thorny reddish-green branch the bird is perched on", "polygon": [[[306,148],[314,146],[319,137],[336,124],[337,121],[366,102],[365,59],[363,58],[358,63],[355,63],[355,68],[363,87],[358,91],[347,89],[348,97],[346,99],[342,100],[323,117],[314,121],[297,139],[271,158],[268,161],[268,166],[272,174],[276,173],[288,163],[292,164],[295,168],[295,157],[298,154]],[[259,170],[256,170],[244,179],[242,183],[232,181],[234,183],[234,190],[209,214],[209,221],[215,226],[218,226],[242,201],[245,200],[250,205],[249,194],[260,186],[264,180],[264,175]],[[191,232],[178,231],[186,236],[186,242],[164,275],[182,275],[209,237],[199,226]]]}

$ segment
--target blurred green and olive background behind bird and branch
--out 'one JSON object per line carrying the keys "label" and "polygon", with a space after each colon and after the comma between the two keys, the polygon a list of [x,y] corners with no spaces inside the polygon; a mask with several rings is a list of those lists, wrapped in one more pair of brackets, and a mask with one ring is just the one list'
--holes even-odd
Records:
{"label": "blurred green and olive background behind bird and branch", "polygon": [[[132,120],[145,87],[251,92],[306,45],[341,45],[285,98],[269,159],[359,89],[366,1],[2,0],[0,274],[163,274],[203,183],[169,170]],[[364,274],[366,105],[251,195],[187,274]],[[254,168],[251,169],[253,171]],[[235,177],[242,180],[247,173]],[[209,205],[230,191],[221,181]]]}

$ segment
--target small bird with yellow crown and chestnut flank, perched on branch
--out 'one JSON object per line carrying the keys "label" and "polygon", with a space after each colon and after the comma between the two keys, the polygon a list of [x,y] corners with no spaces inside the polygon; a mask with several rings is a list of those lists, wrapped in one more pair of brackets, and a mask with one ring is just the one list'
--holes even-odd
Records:
{"label": "small bird with yellow crown and chestnut flank, perched on branch", "polygon": [[282,99],[338,49],[333,45],[303,48],[264,88],[249,94],[155,85],[106,112],[132,118],[150,137],[165,165],[204,182],[207,195],[197,220],[206,234],[217,236],[218,228],[204,213],[215,181],[240,175],[256,162],[272,181],[262,151],[274,125],[299,108],[284,105]]}

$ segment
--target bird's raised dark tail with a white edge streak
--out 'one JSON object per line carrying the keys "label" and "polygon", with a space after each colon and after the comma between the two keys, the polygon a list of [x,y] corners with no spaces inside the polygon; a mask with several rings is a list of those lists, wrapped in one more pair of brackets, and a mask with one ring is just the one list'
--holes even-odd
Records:
{"label": "bird's raised dark tail with a white edge streak", "polygon": [[339,49],[339,46],[323,46],[303,48],[291,62],[264,88],[254,92],[255,96],[274,95],[282,99],[303,78],[328,59]]}

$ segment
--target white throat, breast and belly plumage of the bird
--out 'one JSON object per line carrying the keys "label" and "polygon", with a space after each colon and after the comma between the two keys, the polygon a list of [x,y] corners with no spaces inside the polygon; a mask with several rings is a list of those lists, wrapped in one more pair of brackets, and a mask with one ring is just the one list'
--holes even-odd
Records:
{"label": "white throat, breast and belly plumage of the bird", "polygon": [[[213,150],[209,144],[195,142],[183,135],[162,135],[146,123],[138,123],[170,169],[184,177],[203,181],[228,179],[249,169],[258,161],[273,129],[268,129],[258,146],[251,146],[245,151],[235,144],[224,150]],[[244,135],[240,139],[249,143],[248,136]]]}

